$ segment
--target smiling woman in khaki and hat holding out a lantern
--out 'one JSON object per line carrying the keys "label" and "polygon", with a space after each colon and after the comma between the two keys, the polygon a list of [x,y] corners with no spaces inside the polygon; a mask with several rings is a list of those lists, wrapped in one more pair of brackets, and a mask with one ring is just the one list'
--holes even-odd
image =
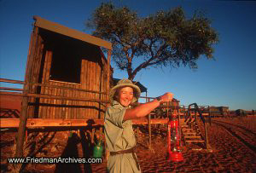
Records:
{"label": "smiling woman in khaki and hat holding out a lantern", "polygon": [[159,107],[160,103],[172,101],[172,93],[166,93],[135,108],[130,104],[138,100],[141,90],[129,79],[119,80],[110,90],[112,105],[105,113],[105,137],[110,152],[108,171],[117,173],[141,172],[134,153],[136,138],[132,130],[131,119],[142,118]]}

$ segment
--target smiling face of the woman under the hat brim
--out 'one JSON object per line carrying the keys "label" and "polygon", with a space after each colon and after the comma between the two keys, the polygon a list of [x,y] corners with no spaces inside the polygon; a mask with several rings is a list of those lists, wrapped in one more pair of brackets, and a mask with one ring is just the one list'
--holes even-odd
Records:
{"label": "smiling face of the woman under the hat brim", "polygon": [[119,103],[123,107],[128,107],[133,99],[133,89],[131,87],[124,87],[119,90]]}

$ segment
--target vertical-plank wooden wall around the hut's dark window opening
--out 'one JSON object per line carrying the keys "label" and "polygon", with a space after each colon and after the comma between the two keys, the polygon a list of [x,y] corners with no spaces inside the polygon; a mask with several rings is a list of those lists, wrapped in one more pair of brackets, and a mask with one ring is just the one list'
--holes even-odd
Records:
{"label": "vertical-plank wooden wall around the hut's dark window opening", "polygon": [[[90,89],[107,92],[107,61],[101,57],[98,61],[82,59],[80,84],[49,80],[52,51],[47,50],[44,61],[42,84],[65,86],[75,89]],[[78,98],[107,99],[107,95],[89,93],[78,90],[55,89],[41,87],[41,94],[73,96]],[[38,118],[103,118],[106,104],[85,101],[65,101],[55,99],[40,99]]]}

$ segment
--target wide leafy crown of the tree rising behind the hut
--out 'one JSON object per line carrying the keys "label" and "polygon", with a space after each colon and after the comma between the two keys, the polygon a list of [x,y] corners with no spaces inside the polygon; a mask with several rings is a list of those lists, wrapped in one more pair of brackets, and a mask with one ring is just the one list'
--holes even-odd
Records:
{"label": "wide leafy crown of the tree rising behind the hut", "polygon": [[[139,18],[131,9],[112,3],[102,3],[86,22],[95,29],[94,36],[113,43],[113,61],[131,80],[150,66],[197,68],[201,55],[212,59],[218,33],[210,25],[203,14],[186,19],[180,7]],[[135,60],[140,61],[137,66]]]}

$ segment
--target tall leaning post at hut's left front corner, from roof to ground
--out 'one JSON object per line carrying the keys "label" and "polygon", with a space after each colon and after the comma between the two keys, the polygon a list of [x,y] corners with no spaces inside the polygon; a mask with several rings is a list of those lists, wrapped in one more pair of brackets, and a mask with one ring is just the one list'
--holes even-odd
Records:
{"label": "tall leaning post at hut's left front corner, from roof to ground", "polygon": [[32,32],[31,35],[31,41],[28,49],[28,56],[27,56],[27,62],[26,62],[26,75],[25,75],[25,85],[23,88],[23,94],[25,96],[22,97],[22,105],[21,105],[21,112],[20,112],[20,124],[19,124],[19,130],[17,134],[17,142],[16,142],[16,152],[15,157],[16,158],[22,158],[23,157],[23,143],[24,138],[26,135],[26,119],[27,119],[27,107],[28,107],[28,97],[27,94],[29,93],[31,82],[31,73],[32,73],[32,63],[33,63],[33,56],[36,49],[35,43],[37,43],[38,38],[38,27],[35,28],[35,30]]}

